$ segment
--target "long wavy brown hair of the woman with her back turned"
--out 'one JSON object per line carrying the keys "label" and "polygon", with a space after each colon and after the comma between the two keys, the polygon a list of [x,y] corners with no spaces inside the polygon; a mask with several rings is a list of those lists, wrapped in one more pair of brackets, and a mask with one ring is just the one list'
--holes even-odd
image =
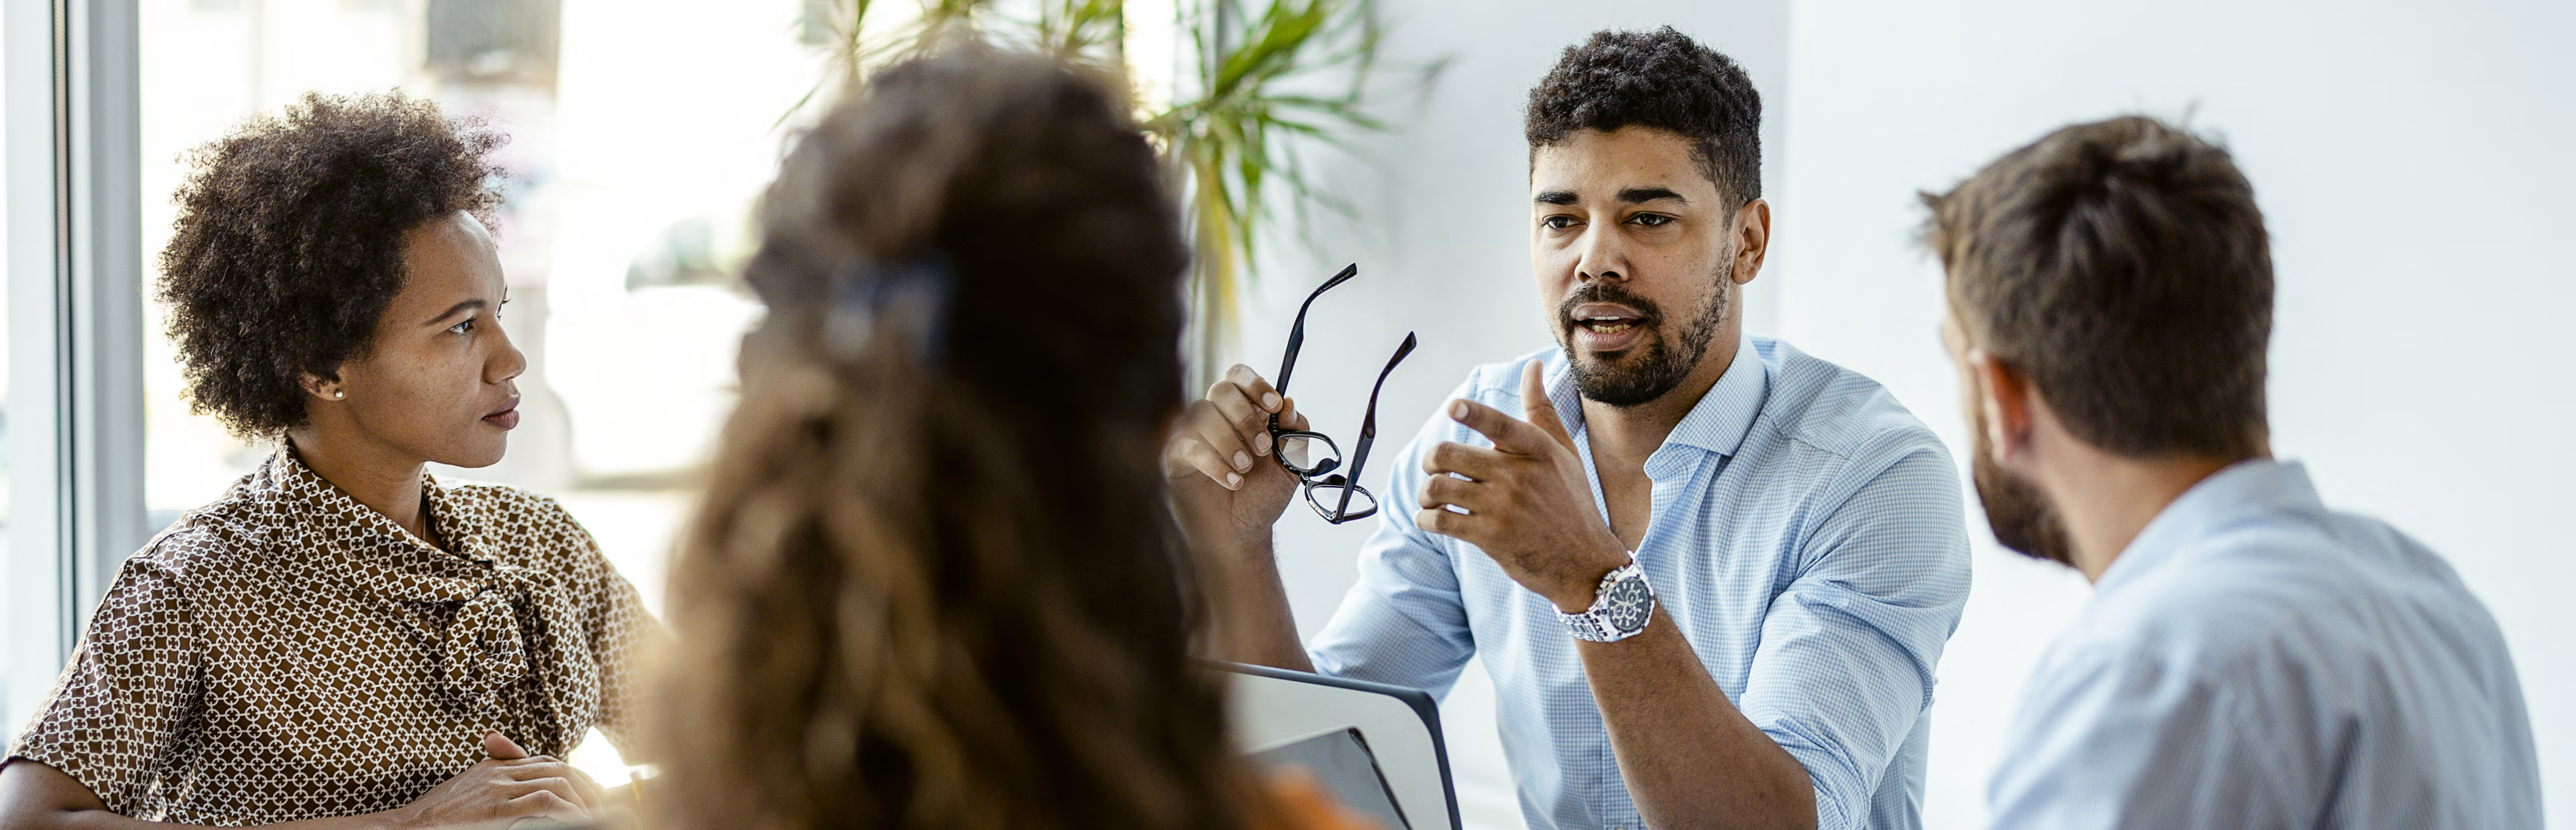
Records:
{"label": "long wavy brown hair of the woman with her back turned", "polygon": [[989,49],[881,70],[760,224],[670,575],[665,827],[1257,825],[1190,662],[1188,247],[1126,98]]}

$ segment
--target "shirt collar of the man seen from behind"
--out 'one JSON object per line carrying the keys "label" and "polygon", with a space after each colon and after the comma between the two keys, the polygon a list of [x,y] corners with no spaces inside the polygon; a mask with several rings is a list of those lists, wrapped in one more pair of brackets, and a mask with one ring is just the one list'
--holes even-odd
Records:
{"label": "shirt collar of the man seen from behind", "polygon": [[2267,513],[2326,513],[2326,503],[2316,497],[2316,485],[2308,479],[2306,464],[2244,459],[2200,479],[2200,485],[2192,485],[2192,490],[2164,505],[2138,531],[2138,539],[2130,539],[2120,549],[2120,559],[2112,559],[2102,570],[2102,580],[2094,583],[2094,593],[2115,590],[2143,572],[2174,562],[2182,552],[2190,552],[2200,539],[2208,539],[2231,521]]}

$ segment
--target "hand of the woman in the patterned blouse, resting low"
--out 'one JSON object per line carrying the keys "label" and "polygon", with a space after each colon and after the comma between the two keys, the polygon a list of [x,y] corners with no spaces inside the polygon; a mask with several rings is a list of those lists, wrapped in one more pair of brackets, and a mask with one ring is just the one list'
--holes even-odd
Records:
{"label": "hand of the woman in the patterned blouse, resting low", "polygon": [[582,822],[608,804],[598,784],[569,763],[528,755],[500,732],[484,735],[484,763],[394,809],[397,827],[471,827],[515,820]]}

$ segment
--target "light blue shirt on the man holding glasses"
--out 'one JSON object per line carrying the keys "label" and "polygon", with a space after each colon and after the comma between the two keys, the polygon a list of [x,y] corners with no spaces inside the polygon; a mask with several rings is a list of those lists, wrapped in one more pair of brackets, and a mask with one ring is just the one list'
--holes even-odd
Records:
{"label": "light blue shirt on the man holding glasses", "polygon": [[[1528,361],[1546,361],[1602,505],[1561,351],[1479,366],[1455,397],[1520,415]],[[1414,528],[1422,454],[1440,441],[1492,446],[1435,415],[1386,461],[1381,526],[1311,644],[1316,670],[1448,693],[1481,655],[1530,827],[1641,827],[1556,608],[1476,546]],[[1960,479],[1940,438],[1875,381],[1749,338],[1646,477],[1636,559],[1726,699],[1806,766],[1821,827],[1917,827],[1932,668],[1968,601]]]}

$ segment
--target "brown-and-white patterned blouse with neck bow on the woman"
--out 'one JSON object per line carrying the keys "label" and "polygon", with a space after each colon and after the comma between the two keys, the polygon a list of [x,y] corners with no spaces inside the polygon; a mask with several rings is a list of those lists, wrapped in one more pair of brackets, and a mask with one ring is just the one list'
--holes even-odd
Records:
{"label": "brown-and-white patterned blouse with neck bow on the woman", "polygon": [[549,497],[428,482],[448,552],[278,451],[126,559],[13,758],[162,822],[410,804],[482,735],[629,750],[634,585]]}

